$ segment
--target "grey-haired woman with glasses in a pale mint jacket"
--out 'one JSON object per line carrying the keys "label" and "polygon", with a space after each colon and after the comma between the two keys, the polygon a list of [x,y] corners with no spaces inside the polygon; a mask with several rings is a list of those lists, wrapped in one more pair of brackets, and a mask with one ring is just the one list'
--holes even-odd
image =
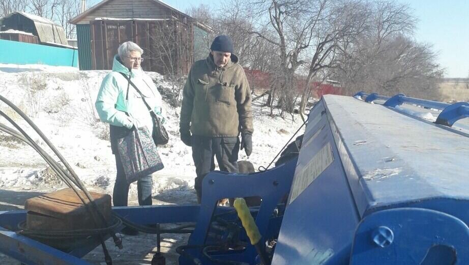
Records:
{"label": "grey-haired woman with glasses in a pale mint jacket", "polygon": [[[118,139],[130,134],[132,128],[146,126],[150,134],[153,130],[153,120],[148,107],[160,119],[161,95],[152,79],[146,75],[140,63],[143,50],[135,43],[128,41],[119,46],[118,55],[114,56],[112,72],[104,77],[96,99],[96,110],[103,122],[109,123],[111,150],[115,155],[117,175],[112,194],[114,206],[127,206],[129,183],[127,182],[121,157],[118,153]],[[140,93],[133,87],[135,85]],[[123,159],[123,158],[122,158]],[[137,180],[138,203],[152,205],[152,175]],[[127,234],[136,234],[137,231],[129,227],[123,230]]]}

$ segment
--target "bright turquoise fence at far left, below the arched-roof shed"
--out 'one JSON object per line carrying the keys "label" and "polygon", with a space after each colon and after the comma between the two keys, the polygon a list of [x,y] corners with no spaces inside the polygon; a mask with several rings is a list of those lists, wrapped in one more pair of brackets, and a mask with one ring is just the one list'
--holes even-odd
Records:
{"label": "bright turquoise fence at far left, below the arched-roof shed", "polygon": [[78,50],[0,40],[0,63],[78,67]]}

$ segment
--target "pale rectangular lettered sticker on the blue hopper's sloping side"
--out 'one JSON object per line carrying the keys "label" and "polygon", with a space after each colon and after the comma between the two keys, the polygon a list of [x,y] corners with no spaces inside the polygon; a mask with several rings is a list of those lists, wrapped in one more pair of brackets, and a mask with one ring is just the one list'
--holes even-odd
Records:
{"label": "pale rectangular lettered sticker on the blue hopper's sloping side", "polygon": [[293,202],[308,186],[316,179],[329,165],[334,161],[332,156],[332,146],[328,142],[319,152],[317,152],[311,161],[295,175],[291,185],[290,198],[288,204]]}

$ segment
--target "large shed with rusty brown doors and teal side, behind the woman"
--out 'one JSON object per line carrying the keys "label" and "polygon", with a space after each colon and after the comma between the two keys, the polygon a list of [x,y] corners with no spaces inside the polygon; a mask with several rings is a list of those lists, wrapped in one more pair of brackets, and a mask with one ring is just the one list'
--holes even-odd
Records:
{"label": "large shed with rusty brown doors and teal side, behind the woman", "polygon": [[77,25],[80,70],[112,69],[119,45],[133,41],[144,51],[144,70],[186,74],[200,43],[194,38],[209,30],[158,0],[104,0],[70,22]]}

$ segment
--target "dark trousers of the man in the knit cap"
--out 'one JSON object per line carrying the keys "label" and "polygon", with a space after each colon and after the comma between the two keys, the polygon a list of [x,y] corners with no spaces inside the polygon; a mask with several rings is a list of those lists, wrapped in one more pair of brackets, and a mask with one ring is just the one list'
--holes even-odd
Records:
{"label": "dark trousers of the man in the knit cap", "polygon": [[202,198],[202,180],[210,171],[215,170],[215,157],[221,171],[238,173],[238,137],[192,136],[192,158],[195,164],[194,188],[197,200]]}

